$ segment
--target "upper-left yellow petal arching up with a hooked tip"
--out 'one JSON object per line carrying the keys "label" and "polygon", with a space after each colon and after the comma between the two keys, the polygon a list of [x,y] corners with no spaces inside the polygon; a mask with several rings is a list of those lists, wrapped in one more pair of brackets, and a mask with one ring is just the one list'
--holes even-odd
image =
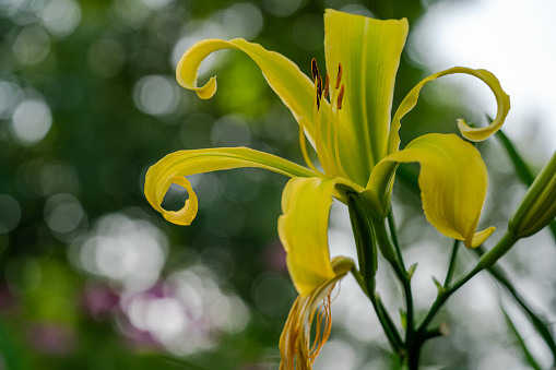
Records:
{"label": "upper-left yellow petal arching up with a hooked tip", "polygon": [[[292,110],[295,119],[305,127],[309,140],[315,138],[312,105],[315,102],[315,85],[307,75],[289,59],[279,52],[269,51],[259,44],[249,43],[242,38],[229,41],[222,39],[206,39],[190,47],[181,57],[176,69],[179,84],[196,91],[199,97],[208,99],[216,92],[216,77],[199,87],[197,85],[198,70],[201,62],[210,53],[222,49],[235,49],[245,52],[261,69],[272,89],[280,96],[286,107]],[[328,103],[324,103],[328,105]],[[328,110],[328,109],[324,109]],[[324,120],[327,117],[324,117]]]}

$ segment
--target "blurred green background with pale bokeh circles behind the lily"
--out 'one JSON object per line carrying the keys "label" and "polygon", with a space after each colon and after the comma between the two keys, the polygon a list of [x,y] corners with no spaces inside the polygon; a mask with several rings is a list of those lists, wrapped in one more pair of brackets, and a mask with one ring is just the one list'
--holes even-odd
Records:
{"label": "blurred green background with pale bokeh circles behind the lily", "polygon": [[[175,65],[198,40],[244,37],[308,73],[314,57],[324,65],[326,8],[405,16],[413,27],[436,3],[0,0],[0,369],[276,369],[295,299],[276,232],[287,179],[251,169],[191,177],[200,212],[190,227],[166,223],[142,189],[149,166],[182,148],[246,145],[303,164],[296,122],[239,52],[217,52],[201,67],[201,81],[218,74],[211,100],[179,87]],[[394,107],[428,73],[413,50],[402,57]],[[425,88],[402,128],[404,143],[454,132],[459,117],[484,121],[462,94],[449,83]],[[534,135],[524,139],[535,145]],[[495,143],[481,150],[495,189],[483,222],[504,229],[523,189]],[[185,198],[171,188],[164,205],[178,208]],[[403,181],[394,202],[406,264],[419,262],[424,310],[450,241],[423,226],[421,201]],[[333,254],[353,253],[340,204],[330,239]],[[527,253],[510,253],[508,268],[549,308],[556,256],[546,236],[535,240]],[[462,256],[462,268],[471,261]],[[380,289],[395,313],[399,290],[385,270]],[[443,312],[452,334],[427,345],[424,363],[523,366],[498,289],[487,276],[473,283]],[[316,368],[393,368],[370,305],[344,285]],[[546,358],[534,330],[521,324]]]}

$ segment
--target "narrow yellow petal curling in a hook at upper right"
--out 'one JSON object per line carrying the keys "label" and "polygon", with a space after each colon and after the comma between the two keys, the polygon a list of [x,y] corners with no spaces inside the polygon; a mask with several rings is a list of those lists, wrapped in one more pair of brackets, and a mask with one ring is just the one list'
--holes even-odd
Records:
{"label": "narrow yellow petal curling in a hook at upper right", "polygon": [[421,88],[430,81],[435,81],[436,79],[441,77],[443,75],[454,73],[470,74],[486,83],[488,87],[490,87],[490,89],[493,91],[494,96],[496,97],[496,103],[498,105],[496,118],[487,127],[472,128],[468,126],[468,123],[464,120],[459,119],[458,128],[460,129],[461,134],[465,139],[471,141],[483,141],[486,140],[488,136],[495,134],[496,131],[498,131],[501,128],[504,121],[506,120],[506,116],[508,116],[508,111],[510,110],[510,97],[501,88],[498,79],[496,79],[496,76],[493,73],[486,70],[473,70],[471,68],[454,67],[446,71],[441,71],[433,75],[429,75],[428,77],[419,82],[415,87],[413,87],[412,91],[405,96],[405,98],[398,107],[394,118],[392,119],[392,126],[390,128],[389,153],[395,153],[398,151],[398,147],[400,146],[400,135],[398,133],[401,124],[400,120],[417,104],[417,98],[419,96]]}

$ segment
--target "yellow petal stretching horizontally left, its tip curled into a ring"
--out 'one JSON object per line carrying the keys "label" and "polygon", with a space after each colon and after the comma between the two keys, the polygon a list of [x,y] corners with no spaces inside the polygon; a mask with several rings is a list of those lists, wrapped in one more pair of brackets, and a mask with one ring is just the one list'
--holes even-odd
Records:
{"label": "yellow petal stretching horizontally left, its tip curled into a ring", "polygon": [[[288,177],[310,177],[315,174],[289,160],[247,147],[220,147],[179,151],[168,154],[154,164],[145,177],[145,196],[164,218],[177,225],[189,225],[197,215],[197,195],[184,176],[223,169],[257,167]],[[171,183],[184,187],[189,200],[179,211],[166,211],[161,204]]]}

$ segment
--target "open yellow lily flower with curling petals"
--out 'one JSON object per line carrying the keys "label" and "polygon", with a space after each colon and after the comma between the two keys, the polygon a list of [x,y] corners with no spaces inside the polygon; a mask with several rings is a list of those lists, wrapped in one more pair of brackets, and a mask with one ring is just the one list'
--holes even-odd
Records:
{"label": "open yellow lily flower with curling petals", "polygon": [[[466,247],[478,246],[494,231],[488,228],[475,232],[487,187],[480,153],[453,134],[423,135],[399,151],[398,130],[401,118],[415,106],[423,85],[446,74],[478,77],[496,96],[498,112],[488,127],[470,128],[459,120],[461,134],[468,140],[485,140],[500,128],[509,110],[509,97],[492,73],[452,68],[415,86],[391,120],[395,73],[407,31],[405,19],[378,21],[327,10],[324,52],[330,73],[324,79],[315,61],[309,79],[289,59],[245,39],[208,39],[193,45],[177,67],[178,82],[199,97],[210,98],[216,92],[216,80],[211,77],[204,86],[198,86],[200,63],[220,49],[245,52],[299,123],[308,168],[246,147],[179,151],[149,169],[146,199],[169,222],[189,225],[197,214],[197,198],[185,176],[240,167],[289,176],[292,180],[282,195],[279,234],[287,251],[289,274],[303,297],[338,276],[327,237],[332,198],[345,201],[347,192],[360,193],[374,214],[385,217],[400,163],[421,164],[419,186],[428,220],[443,235],[464,240]],[[317,152],[321,169],[310,160],[306,138]],[[189,200],[178,212],[161,206],[173,182],[189,192]]]}

